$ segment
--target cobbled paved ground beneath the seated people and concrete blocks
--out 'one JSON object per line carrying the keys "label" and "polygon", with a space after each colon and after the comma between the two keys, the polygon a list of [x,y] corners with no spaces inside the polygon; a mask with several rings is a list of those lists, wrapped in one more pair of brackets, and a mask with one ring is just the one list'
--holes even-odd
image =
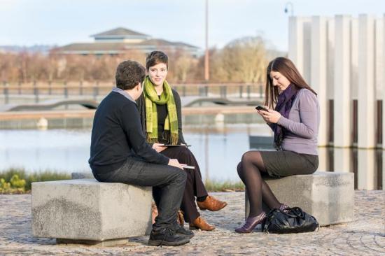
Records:
{"label": "cobbled paved ground beneath the seated people and concrete blocks", "polygon": [[0,195],[0,255],[385,255],[385,192],[356,191],[355,220],[302,234],[236,234],[243,220],[244,193],[216,193],[228,201],[204,212],[214,232],[195,232],[186,246],[149,247],[148,236],[118,247],[56,245],[31,236],[31,195]]}

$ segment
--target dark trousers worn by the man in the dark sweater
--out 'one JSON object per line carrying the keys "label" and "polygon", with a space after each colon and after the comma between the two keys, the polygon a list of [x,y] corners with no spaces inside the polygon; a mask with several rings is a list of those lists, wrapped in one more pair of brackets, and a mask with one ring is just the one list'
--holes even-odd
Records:
{"label": "dark trousers worn by the man in the dark sweater", "polygon": [[153,187],[159,213],[153,224],[155,231],[178,227],[176,213],[181,205],[186,176],[185,171],[174,166],[150,164],[137,157],[129,157],[123,166],[109,173],[94,173],[94,177],[102,182]]}

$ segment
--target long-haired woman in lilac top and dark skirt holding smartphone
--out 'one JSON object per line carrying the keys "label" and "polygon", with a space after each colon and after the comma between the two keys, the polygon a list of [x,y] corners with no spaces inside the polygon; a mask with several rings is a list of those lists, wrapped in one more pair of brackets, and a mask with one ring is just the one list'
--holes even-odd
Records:
{"label": "long-haired woman in lilac top and dark skirt holding smartphone", "polygon": [[252,232],[265,220],[262,201],[269,208],[282,211],[288,208],[276,199],[262,176],[311,174],[318,168],[316,92],[307,85],[290,59],[277,57],[269,62],[265,108],[257,107],[257,111],[274,131],[276,151],[248,151],[237,166],[250,199],[250,213],[246,223],[235,229],[238,233]]}

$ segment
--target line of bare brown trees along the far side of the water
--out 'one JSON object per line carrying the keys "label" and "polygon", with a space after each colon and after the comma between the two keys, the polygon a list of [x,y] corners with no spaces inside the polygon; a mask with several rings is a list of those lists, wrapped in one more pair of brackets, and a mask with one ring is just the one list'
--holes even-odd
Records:
{"label": "line of bare brown trees along the far side of the water", "polygon": [[[239,38],[225,45],[223,49],[211,48],[211,83],[259,83],[262,82],[267,66],[268,52],[261,36]],[[163,50],[169,55],[169,74],[172,82],[191,83],[204,81],[204,57],[193,57],[183,50]],[[30,82],[31,80],[114,80],[116,66],[125,59],[144,64],[146,53],[127,50],[120,55],[50,55],[29,52],[0,53],[0,79],[9,82]]]}

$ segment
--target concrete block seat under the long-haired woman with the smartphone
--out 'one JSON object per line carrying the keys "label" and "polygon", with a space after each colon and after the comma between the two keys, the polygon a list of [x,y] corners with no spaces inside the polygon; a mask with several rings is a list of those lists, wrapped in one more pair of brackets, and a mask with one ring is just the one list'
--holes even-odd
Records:
{"label": "concrete block seat under the long-haired woman with the smartphone", "polygon": [[[279,201],[299,206],[314,215],[321,226],[353,221],[354,173],[316,171],[312,175],[268,178],[265,181]],[[249,202],[245,194],[247,218]]]}

